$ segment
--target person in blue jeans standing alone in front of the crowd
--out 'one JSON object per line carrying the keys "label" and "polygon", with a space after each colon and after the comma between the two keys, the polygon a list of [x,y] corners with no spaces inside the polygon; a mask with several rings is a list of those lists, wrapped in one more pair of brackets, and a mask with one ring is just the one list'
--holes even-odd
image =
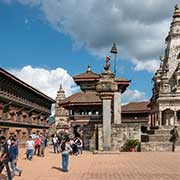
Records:
{"label": "person in blue jeans standing alone in front of the crowd", "polygon": [[69,153],[71,152],[71,145],[69,139],[62,140],[61,143],[61,150],[62,150],[62,170],[64,172],[68,172],[68,165],[69,165]]}

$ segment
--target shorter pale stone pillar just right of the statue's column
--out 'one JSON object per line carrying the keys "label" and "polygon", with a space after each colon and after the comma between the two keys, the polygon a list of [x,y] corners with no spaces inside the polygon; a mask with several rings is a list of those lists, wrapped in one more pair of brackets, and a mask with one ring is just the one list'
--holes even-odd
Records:
{"label": "shorter pale stone pillar just right of the statue's column", "polygon": [[114,124],[121,124],[121,92],[114,93]]}

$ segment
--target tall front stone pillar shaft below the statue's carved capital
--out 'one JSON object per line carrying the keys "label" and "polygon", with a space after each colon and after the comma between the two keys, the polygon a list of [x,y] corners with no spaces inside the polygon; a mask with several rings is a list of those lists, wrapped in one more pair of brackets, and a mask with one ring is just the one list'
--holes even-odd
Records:
{"label": "tall front stone pillar shaft below the statue's carved capital", "polygon": [[103,149],[111,149],[111,96],[103,97]]}

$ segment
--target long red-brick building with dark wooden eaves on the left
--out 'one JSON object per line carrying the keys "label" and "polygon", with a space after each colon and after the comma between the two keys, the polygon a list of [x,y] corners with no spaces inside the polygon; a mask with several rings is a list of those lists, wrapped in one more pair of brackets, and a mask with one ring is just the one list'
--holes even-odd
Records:
{"label": "long red-brick building with dark wooden eaves on the left", "polygon": [[0,68],[0,135],[26,139],[31,133],[46,132],[52,103],[53,99]]}

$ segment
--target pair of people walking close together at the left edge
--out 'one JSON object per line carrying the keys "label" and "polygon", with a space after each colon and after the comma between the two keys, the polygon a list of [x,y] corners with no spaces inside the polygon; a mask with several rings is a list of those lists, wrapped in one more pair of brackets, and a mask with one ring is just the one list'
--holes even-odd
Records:
{"label": "pair of people walking close together at the left edge", "polygon": [[8,175],[8,180],[12,180],[12,178],[16,174],[21,176],[22,170],[17,168],[17,160],[19,154],[17,136],[13,135],[8,139],[6,139],[5,136],[1,136],[0,149],[0,173],[5,168]]}

